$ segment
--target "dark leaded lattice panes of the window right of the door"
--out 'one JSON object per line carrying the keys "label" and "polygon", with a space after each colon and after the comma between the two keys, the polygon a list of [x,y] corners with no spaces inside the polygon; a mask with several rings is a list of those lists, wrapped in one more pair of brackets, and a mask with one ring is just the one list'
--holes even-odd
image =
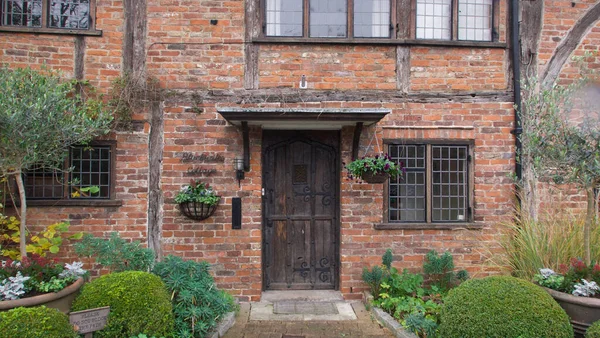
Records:
{"label": "dark leaded lattice panes of the window right of the door", "polygon": [[470,222],[470,146],[390,144],[406,173],[388,183],[388,221]]}

